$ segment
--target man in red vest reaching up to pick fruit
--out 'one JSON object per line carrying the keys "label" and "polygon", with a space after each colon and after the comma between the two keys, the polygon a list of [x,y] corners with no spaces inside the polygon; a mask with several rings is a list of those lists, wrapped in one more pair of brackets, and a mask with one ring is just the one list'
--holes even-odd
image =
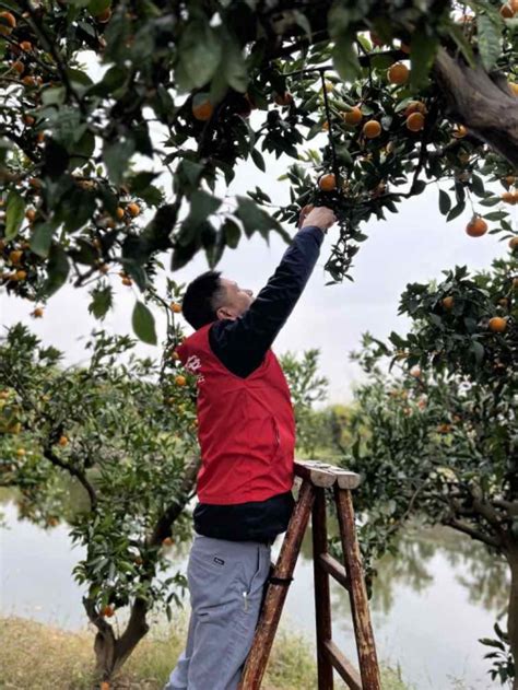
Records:
{"label": "man in red vest reaching up to pick fruit", "polygon": [[271,346],[334,222],[330,209],[306,207],[291,246],[255,299],[219,271],[187,288],[183,311],[196,331],[177,352],[198,379],[201,469],[187,568],[187,645],[164,690],[234,690],[239,683],[271,545],[294,507],[295,419]]}

